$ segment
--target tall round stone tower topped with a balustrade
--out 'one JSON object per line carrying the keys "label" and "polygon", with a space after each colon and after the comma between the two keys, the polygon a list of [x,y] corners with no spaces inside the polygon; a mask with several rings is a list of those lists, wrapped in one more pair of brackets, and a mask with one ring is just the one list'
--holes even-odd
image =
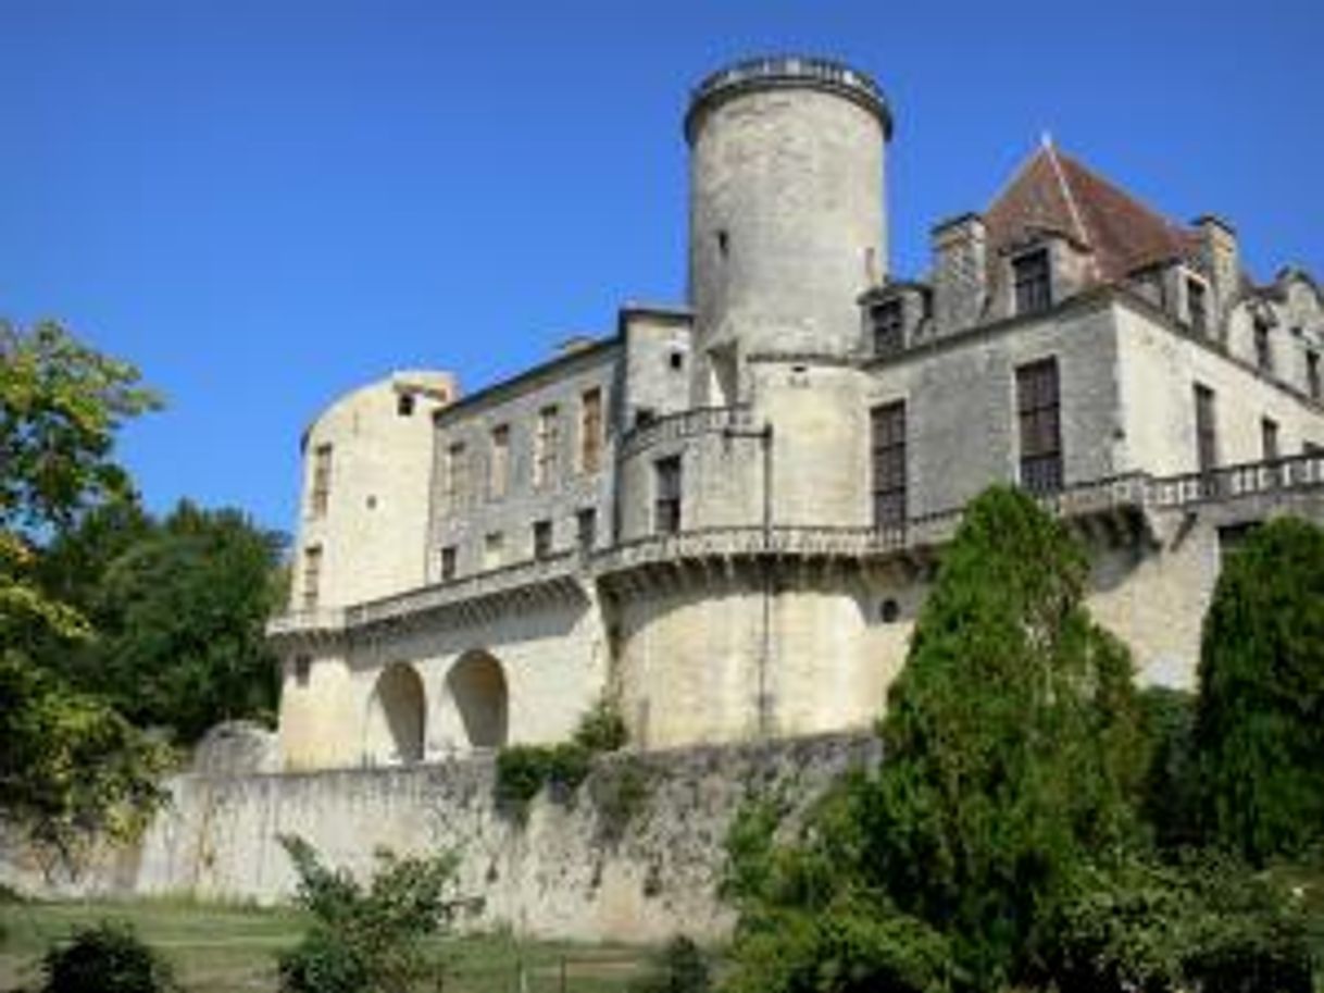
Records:
{"label": "tall round stone tower topped with a balustrade", "polygon": [[752,354],[854,351],[855,299],[887,273],[878,85],[821,58],[737,62],[694,90],[685,134],[696,402],[745,399]]}

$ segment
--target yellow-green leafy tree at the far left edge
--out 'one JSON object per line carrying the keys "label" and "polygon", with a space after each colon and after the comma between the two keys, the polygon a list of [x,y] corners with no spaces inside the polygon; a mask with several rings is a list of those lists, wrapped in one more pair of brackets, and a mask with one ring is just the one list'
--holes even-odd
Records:
{"label": "yellow-green leafy tree at the far left edge", "polygon": [[41,670],[33,650],[93,636],[42,587],[45,547],[131,498],[114,461],[127,417],[158,405],[138,372],[58,324],[0,323],[0,810],[69,867],[98,833],[134,833],[163,798],[168,756],[101,700]]}

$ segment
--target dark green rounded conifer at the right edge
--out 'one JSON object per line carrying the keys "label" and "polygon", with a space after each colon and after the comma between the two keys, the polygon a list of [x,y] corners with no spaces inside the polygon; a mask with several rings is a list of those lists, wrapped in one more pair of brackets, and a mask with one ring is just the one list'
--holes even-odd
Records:
{"label": "dark green rounded conifer at the right edge", "polygon": [[1213,841],[1264,863],[1324,839],[1324,530],[1272,520],[1229,556],[1194,736]]}

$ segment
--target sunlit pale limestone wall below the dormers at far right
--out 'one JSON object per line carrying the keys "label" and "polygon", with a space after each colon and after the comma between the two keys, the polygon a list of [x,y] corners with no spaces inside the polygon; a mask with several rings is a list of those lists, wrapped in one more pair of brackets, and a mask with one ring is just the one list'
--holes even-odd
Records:
{"label": "sunlit pale limestone wall below the dormers at far right", "polygon": [[[1324,410],[1317,405],[1136,307],[1123,302],[1116,314],[1124,432],[1117,471],[1196,471],[1197,383],[1215,393],[1219,465],[1263,458],[1264,417],[1279,425],[1283,455],[1298,454],[1307,441],[1324,444]],[[1068,391],[1063,395],[1070,399]]]}

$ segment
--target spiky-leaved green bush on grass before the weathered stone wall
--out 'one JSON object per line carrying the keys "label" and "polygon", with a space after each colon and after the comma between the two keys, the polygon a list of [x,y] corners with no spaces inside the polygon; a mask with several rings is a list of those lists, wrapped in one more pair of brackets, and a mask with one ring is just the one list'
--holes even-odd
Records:
{"label": "spiky-leaved green bush on grass before the weathered stone wall", "polygon": [[281,835],[281,845],[299,876],[295,900],[314,918],[303,940],[278,956],[285,993],[409,993],[437,974],[422,939],[444,929],[459,906],[446,896],[454,855],[377,851],[364,888],[347,871],[323,866],[302,838]]}

